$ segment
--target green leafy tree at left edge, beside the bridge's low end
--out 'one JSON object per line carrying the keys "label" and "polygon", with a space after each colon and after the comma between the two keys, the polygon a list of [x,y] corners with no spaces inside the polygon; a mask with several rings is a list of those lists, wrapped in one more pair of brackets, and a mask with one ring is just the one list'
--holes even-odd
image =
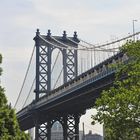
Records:
{"label": "green leafy tree at left edge, beside the bridge's low end", "polygon": [[[2,68],[0,67],[0,76],[1,73]],[[29,140],[29,136],[19,129],[15,110],[8,105],[4,92],[4,88],[0,85],[0,140]]]}

